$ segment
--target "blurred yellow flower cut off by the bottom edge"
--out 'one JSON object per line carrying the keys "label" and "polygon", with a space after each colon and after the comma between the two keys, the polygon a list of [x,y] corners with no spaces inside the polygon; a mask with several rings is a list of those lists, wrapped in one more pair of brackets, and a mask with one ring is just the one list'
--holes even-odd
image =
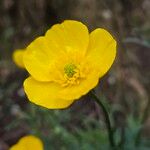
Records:
{"label": "blurred yellow flower cut off by the bottom edge", "polygon": [[44,150],[42,141],[32,135],[22,137],[10,150]]}

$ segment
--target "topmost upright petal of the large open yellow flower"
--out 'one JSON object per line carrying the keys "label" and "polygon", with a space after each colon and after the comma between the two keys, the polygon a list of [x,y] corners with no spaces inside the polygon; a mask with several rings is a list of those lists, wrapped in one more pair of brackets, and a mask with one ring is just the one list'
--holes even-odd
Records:
{"label": "topmost upright petal of the large open yellow flower", "polygon": [[89,43],[89,32],[81,22],[66,20],[48,30],[46,39],[54,52],[59,49],[59,51],[78,51],[84,55]]}

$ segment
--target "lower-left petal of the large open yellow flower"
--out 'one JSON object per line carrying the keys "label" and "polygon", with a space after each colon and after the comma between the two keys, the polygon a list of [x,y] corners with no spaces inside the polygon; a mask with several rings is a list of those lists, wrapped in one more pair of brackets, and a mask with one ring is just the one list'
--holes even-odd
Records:
{"label": "lower-left petal of the large open yellow flower", "polygon": [[73,100],[58,98],[61,87],[52,82],[39,82],[29,77],[24,82],[24,90],[29,100],[37,105],[50,108],[66,108],[73,103]]}

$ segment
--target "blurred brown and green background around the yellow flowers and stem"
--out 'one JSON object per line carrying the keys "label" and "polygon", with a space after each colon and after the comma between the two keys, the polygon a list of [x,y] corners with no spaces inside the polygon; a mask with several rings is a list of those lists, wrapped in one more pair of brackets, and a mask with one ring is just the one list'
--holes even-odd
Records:
{"label": "blurred brown and green background around the yellow flowers and stem", "polygon": [[36,106],[23,92],[27,72],[12,61],[15,49],[66,19],[114,35],[117,58],[96,92],[120,149],[149,150],[150,0],[0,0],[0,150],[27,134],[45,150],[109,150],[103,114],[88,95],[65,110]]}

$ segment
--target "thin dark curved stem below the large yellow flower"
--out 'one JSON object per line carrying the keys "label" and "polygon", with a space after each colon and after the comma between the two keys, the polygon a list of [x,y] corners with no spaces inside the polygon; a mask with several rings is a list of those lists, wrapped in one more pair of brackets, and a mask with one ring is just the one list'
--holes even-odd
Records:
{"label": "thin dark curved stem below the large yellow flower", "polygon": [[92,97],[94,98],[95,102],[102,108],[104,117],[105,117],[105,123],[107,127],[108,137],[109,137],[109,143],[112,148],[115,148],[115,141],[113,136],[113,130],[111,127],[111,122],[109,118],[109,114],[104,106],[104,104],[100,101],[100,99],[95,95],[95,93],[91,92]]}

